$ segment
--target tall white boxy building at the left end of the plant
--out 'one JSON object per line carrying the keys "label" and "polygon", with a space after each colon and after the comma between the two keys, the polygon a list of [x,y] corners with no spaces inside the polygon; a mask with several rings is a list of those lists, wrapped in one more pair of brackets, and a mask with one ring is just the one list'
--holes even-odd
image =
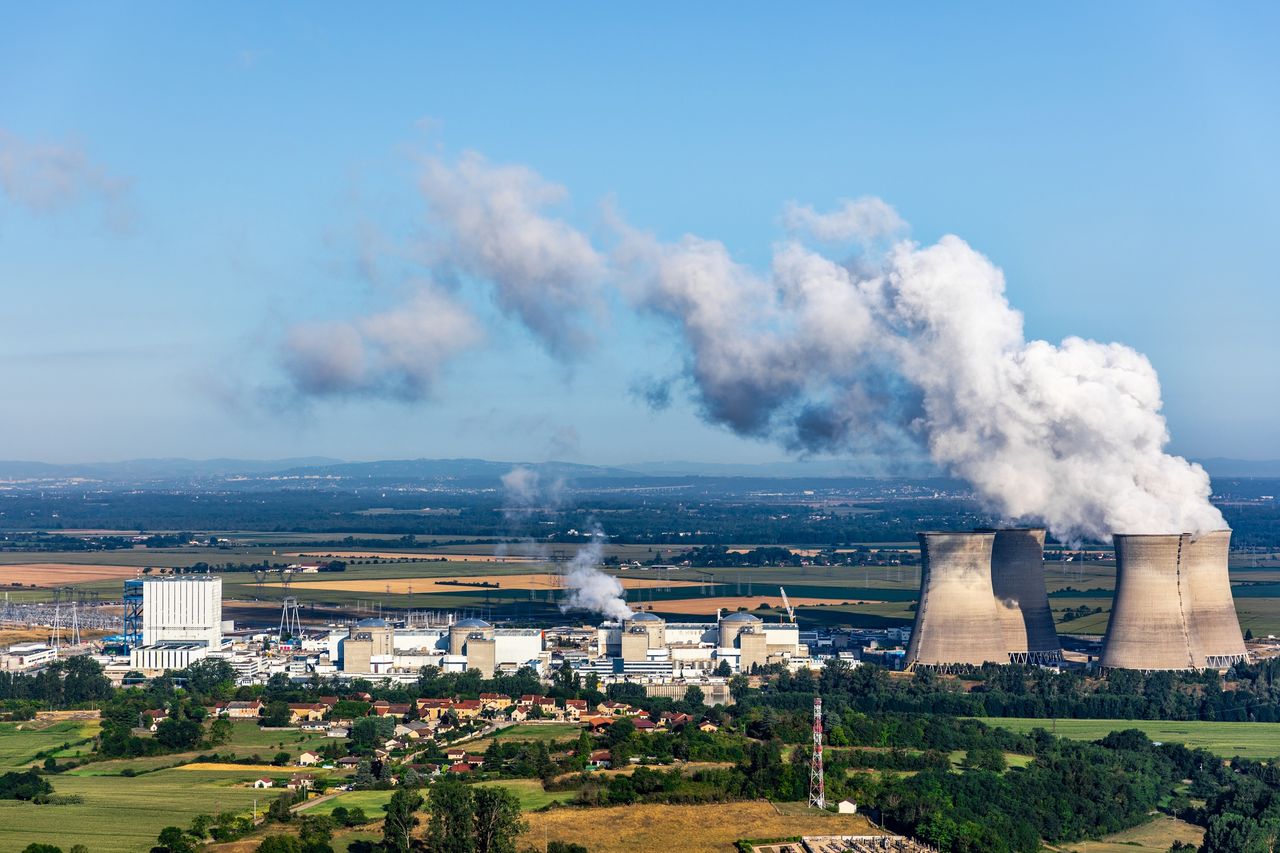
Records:
{"label": "tall white boxy building at the left end of the plant", "polygon": [[168,575],[142,581],[142,644],[223,643],[223,579]]}

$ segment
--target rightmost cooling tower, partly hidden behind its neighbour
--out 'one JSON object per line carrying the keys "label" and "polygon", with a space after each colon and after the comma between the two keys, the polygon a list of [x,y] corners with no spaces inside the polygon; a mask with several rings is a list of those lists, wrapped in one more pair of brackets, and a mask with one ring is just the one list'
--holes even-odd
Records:
{"label": "rightmost cooling tower, partly hidden behind its neighbour", "polygon": [[1226,570],[1230,544],[1230,530],[1183,537],[1181,575],[1190,598],[1192,652],[1196,665],[1204,669],[1225,669],[1248,660]]}

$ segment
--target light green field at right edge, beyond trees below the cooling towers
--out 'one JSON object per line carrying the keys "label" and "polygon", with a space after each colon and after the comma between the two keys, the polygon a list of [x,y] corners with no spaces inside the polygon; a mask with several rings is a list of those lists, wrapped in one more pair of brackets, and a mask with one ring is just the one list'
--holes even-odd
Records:
{"label": "light green field at right edge, beyond trees below the cooling towers", "polygon": [[1140,729],[1152,740],[1181,743],[1208,749],[1225,758],[1275,758],[1280,756],[1280,724],[1276,722],[1167,722],[1155,720],[1032,720],[1027,717],[982,717],[989,726],[1027,733],[1044,729],[1071,740],[1098,740],[1112,731]]}

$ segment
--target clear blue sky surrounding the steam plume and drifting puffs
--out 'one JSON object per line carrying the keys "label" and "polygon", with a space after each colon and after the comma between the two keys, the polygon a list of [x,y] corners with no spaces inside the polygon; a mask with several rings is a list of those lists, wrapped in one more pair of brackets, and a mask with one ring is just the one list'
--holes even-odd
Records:
{"label": "clear blue sky surrounding the steam plume and drifting puffs", "polygon": [[[1248,3],[13,8],[0,457],[786,457],[630,393],[684,362],[657,319],[609,310],[566,364],[465,280],[485,342],[425,400],[282,393],[289,328],[419,274],[388,247],[424,229],[420,158],[466,150],[563,184],[586,234],[608,202],[756,265],[788,201],[879,196],[913,238],[1000,265],[1029,336],[1147,353],[1175,451],[1277,457],[1277,23]],[[77,191],[6,190],[5,140],[12,169],[82,154]]]}

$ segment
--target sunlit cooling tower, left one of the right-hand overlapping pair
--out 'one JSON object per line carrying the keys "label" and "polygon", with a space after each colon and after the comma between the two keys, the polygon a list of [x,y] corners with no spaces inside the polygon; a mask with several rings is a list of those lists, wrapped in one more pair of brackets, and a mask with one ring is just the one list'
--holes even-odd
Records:
{"label": "sunlit cooling tower, left one of the right-hand overlapping pair", "polygon": [[1193,670],[1190,589],[1179,534],[1123,534],[1116,546],[1116,594],[1101,663],[1124,670]]}

